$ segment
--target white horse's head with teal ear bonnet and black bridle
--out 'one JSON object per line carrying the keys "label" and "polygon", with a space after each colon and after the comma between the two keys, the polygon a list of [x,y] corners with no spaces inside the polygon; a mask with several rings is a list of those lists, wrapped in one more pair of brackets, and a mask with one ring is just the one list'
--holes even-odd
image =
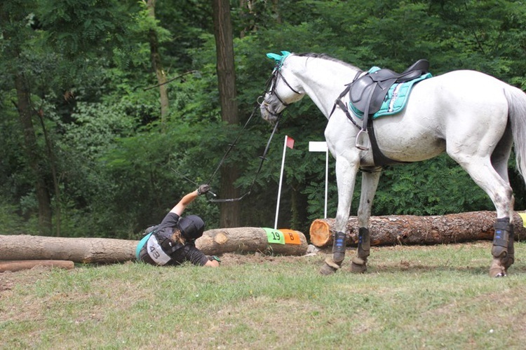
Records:
{"label": "white horse's head with teal ear bonnet and black bridle", "polygon": [[298,86],[299,80],[288,69],[288,64],[285,64],[285,58],[292,54],[287,51],[281,51],[281,54],[267,53],[267,57],[276,60],[276,66],[267,82],[265,96],[259,109],[262,118],[269,123],[275,123],[286,106],[304,96],[303,90]]}

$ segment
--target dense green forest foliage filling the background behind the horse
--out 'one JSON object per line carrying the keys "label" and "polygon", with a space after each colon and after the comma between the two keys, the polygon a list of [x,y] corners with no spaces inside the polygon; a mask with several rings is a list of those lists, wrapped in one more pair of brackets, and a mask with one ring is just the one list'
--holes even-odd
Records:
{"label": "dense green forest foliage filling the background behind the horse", "polygon": [[[526,89],[526,8],[521,1],[231,2],[241,123],[223,125],[210,1],[158,0],[156,18],[137,1],[4,0],[0,4],[0,225],[38,233],[34,174],[16,108],[14,79],[30,91],[36,152],[53,209],[55,234],[137,237],[215,172],[264,90],[271,51],[324,52],[367,69],[403,70],[419,58],[434,75],[477,69]],[[154,31],[168,78],[169,115],[161,128],[159,90],[148,34]],[[280,226],[308,232],[323,216],[325,157],[309,153],[326,120],[308,99],[290,106],[255,186],[243,200],[243,225],[274,222],[283,136],[296,139],[285,165]],[[259,116],[226,162],[250,188],[271,126]],[[515,209],[524,182],[510,164]],[[177,169],[177,174],[171,169]],[[218,176],[212,179],[220,193]],[[352,213],[356,213],[359,183]],[[336,204],[334,165],[329,216]],[[189,208],[219,223],[218,206]],[[446,156],[388,167],[374,215],[493,210],[485,193]],[[59,215],[60,214],[60,215]]]}

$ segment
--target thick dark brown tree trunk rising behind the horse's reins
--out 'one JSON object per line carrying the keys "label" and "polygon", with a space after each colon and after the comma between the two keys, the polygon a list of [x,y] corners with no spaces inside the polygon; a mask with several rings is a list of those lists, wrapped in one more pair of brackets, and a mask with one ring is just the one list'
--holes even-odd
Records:
{"label": "thick dark brown tree trunk rising behind the horse's reins", "polygon": [[[236,103],[236,71],[234,66],[234,38],[230,19],[230,1],[213,0],[213,22],[215,50],[217,55],[217,83],[220,93],[221,118],[229,124],[238,124],[238,106]],[[239,197],[234,187],[238,178],[236,165],[225,165],[221,169],[221,195],[224,198]],[[220,208],[222,228],[238,227],[239,202],[226,202]]]}

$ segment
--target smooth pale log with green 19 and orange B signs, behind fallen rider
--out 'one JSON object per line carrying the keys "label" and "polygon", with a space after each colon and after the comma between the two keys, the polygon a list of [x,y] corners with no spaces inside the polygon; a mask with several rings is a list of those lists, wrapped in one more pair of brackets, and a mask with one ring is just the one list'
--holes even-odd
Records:
{"label": "smooth pale log with green 19 and orange B signs, behind fallen rider", "polygon": [[[71,260],[112,263],[135,260],[139,241],[111,238],[65,238],[30,235],[0,235],[0,260]],[[196,240],[206,255],[222,253],[274,253],[304,255],[305,235],[299,231],[264,228],[208,230]]]}

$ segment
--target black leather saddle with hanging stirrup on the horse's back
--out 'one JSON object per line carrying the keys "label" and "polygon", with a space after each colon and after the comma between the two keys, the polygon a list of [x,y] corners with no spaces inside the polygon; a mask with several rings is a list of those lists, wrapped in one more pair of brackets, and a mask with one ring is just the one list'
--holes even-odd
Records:
{"label": "black leather saddle with hanging stirrup on the horse's back", "polygon": [[[363,124],[360,132],[356,135],[356,147],[367,151],[367,126],[369,116],[377,113],[382,107],[389,88],[395,83],[405,83],[419,78],[428,73],[429,62],[427,59],[419,59],[402,73],[396,73],[391,69],[370,70],[360,74],[347,87],[349,97],[353,106],[363,112]],[[346,90],[347,90],[346,89]],[[345,91],[346,93],[347,91]],[[372,126],[370,127],[372,129]]]}

